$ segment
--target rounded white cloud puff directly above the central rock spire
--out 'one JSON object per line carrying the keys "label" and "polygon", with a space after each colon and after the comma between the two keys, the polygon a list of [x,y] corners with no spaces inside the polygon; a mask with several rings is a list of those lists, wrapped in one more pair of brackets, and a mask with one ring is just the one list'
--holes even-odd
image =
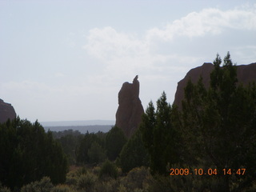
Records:
{"label": "rounded white cloud puff directly above the central rock spire", "polygon": [[154,53],[146,40],[134,34],[119,33],[110,26],[90,30],[83,48],[106,64],[106,74],[115,77],[134,75],[145,68],[150,69],[155,62],[166,62],[170,58],[170,55]]}

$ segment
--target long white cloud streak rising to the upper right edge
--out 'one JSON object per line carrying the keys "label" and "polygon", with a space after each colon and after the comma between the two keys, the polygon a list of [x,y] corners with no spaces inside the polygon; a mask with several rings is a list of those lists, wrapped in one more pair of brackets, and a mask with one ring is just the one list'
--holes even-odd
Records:
{"label": "long white cloud streak rising to the upper right edge", "polygon": [[256,8],[234,10],[204,9],[192,12],[186,17],[167,24],[164,29],[153,28],[147,31],[147,39],[162,38],[172,40],[175,36],[189,38],[206,34],[221,34],[226,28],[237,30],[256,30]]}

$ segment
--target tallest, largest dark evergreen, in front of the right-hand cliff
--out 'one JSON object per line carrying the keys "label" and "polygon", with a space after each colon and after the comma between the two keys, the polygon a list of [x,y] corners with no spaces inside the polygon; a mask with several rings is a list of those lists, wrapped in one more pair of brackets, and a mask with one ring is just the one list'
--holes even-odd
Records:
{"label": "tallest, largest dark evergreen, in front of the right-hand cliff", "polygon": [[[210,88],[189,81],[182,102],[180,129],[190,153],[190,166],[215,167],[222,184],[216,191],[241,191],[255,178],[255,84],[238,84],[236,66],[226,54],[223,66],[217,55],[210,74]],[[245,175],[236,170],[245,168]],[[232,175],[223,175],[223,169]],[[232,185],[236,183],[236,186]]]}

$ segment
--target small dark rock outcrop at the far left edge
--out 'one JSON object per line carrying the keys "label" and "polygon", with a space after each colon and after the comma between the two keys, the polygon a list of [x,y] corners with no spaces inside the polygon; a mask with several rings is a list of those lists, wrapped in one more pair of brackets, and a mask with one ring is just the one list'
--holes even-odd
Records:
{"label": "small dark rock outcrop at the far left edge", "polygon": [[11,106],[10,103],[3,102],[0,98],[0,123],[6,122],[8,118],[10,118],[10,120],[16,118],[14,107]]}

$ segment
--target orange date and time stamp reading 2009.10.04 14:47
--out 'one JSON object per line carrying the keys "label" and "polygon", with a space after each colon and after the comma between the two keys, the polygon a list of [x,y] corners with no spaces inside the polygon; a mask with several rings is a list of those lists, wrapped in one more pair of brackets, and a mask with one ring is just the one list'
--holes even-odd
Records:
{"label": "orange date and time stamp reading 2009.10.04 14:47", "polygon": [[246,174],[246,169],[240,168],[237,170],[233,169],[222,169],[222,170],[217,170],[215,169],[194,169],[190,170],[188,168],[185,169],[178,169],[178,168],[171,168],[170,169],[170,175],[217,175],[217,174],[222,174],[222,175],[244,175]]}

